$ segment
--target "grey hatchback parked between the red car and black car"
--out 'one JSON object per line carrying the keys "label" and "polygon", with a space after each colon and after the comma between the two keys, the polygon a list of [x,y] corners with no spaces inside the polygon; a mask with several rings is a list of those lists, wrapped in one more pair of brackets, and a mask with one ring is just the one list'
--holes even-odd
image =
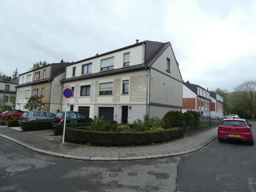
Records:
{"label": "grey hatchback parked between the red car and black car", "polygon": [[52,121],[55,117],[54,113],[46,111],[26,111],[24,112],[18,121],[18,123],[23,123],[26,121]]}

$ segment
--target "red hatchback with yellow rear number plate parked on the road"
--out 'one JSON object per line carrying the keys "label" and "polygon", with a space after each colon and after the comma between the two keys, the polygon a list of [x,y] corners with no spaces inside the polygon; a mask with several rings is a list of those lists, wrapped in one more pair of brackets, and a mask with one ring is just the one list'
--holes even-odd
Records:
{"label": "red hatchback with yellow rear number plate parked on the road", "polygon": [[218,140],[247,141],[253,145],[251,126],[246,119],[223,119],[218,128]]}

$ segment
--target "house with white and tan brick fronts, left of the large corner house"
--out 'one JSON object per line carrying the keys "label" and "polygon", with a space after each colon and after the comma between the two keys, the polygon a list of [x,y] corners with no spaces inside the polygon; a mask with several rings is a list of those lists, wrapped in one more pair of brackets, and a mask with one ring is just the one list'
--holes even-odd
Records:
{"label": "house with white and tan brick fronts, left of the large corner house", "polygon": [[61,110],[62,100],[62,83],[65,75],[65,65],[63,60],[61,63],[51,63],[22,73],[19,75],[19,82],[16,86],[16,109],[27,111],[27,100],[30,96],[39,95],[44,103],[43,111],[57,113]]}

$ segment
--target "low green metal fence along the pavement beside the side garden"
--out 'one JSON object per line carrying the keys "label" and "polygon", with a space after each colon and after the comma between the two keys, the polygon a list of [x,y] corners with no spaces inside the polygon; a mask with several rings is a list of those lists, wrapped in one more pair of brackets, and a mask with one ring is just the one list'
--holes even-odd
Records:
{"label": "low green metal fence along the pavement beside the side garden", "polygon": [[211,128],[220,125],[220,118],[204,118],[197,120],[182,121],[182,128],[184,132],[193,131],[196,129]]}

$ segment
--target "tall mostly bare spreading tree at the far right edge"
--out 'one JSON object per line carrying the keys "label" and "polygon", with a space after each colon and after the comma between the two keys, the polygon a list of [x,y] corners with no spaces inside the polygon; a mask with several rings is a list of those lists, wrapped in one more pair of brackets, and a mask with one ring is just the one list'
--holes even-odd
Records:
{"label": "tall mostly bare spreading tree at the far right edge", "polygon": [[256,110],[256,81],[247,80],[235,87],[236,105],[243,107],[251,113],[251,118],[254,119]]}

